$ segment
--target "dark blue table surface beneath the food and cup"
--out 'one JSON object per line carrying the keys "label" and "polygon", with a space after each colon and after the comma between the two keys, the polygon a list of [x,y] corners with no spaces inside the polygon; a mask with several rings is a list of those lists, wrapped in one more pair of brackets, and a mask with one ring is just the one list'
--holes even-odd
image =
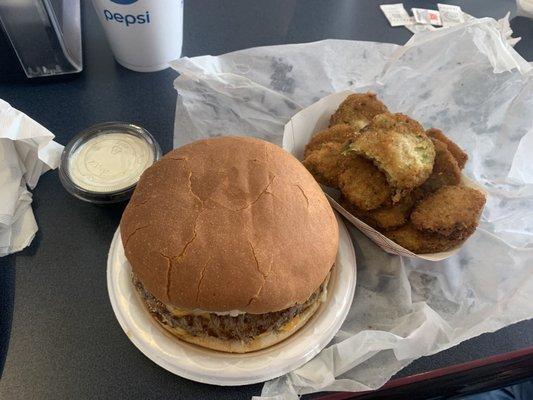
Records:
{"label": "dark blue table surface beneath the food and cup", "polygon": [[[0,98],[49,128],[62,144],[90,125],[121,120],[147,128],[164,152],[170,150],[176,73],[141,74],[120,67],[90,3],[82,3],[83,73],[68,81],[1,84]],[[436,8],[435,3],[404,5]],[[183,55],[326,38],[405,43],[411,34],[403,27],[391,28],[378,4],[189,0]],[[477,17],[499,18],[515,10],[511,0],[454,4]],[[533,21],[514,18],[512,27],[523,37],[516,49],[533,59]],[[146,358],[122,332],[107,295],[106,258],[123,206],[75,199],[53,171],[35,189],[33,208],[40,228],[33,243],[17,255],[0,258],[0,336],[10,337],[9,347],[0,341],[0,367],[7,350],[0,398],[248,399],[259,394],[260,384],[215,387],[174,376]],[[532,345],[533,321],[524,321],[416,360],[398,375]]]}

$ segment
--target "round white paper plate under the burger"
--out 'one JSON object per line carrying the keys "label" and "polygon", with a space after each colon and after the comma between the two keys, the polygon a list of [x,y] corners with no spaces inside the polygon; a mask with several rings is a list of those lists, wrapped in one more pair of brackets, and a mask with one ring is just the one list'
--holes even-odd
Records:
{"label": "round white paper plate under the burger", "polygon": [[335,336],[346,318],[355,291],[356,261],[350,235],[339,223],[339,252],[328,285],[327,300],[298,332],[270,348],[228,354],[183,342],[150,316],[131,282],[119,231],[107,259],[107,288],[120,326],[145,356],[166,370],[194,381],[214,385],[263,382],[305,364]]}

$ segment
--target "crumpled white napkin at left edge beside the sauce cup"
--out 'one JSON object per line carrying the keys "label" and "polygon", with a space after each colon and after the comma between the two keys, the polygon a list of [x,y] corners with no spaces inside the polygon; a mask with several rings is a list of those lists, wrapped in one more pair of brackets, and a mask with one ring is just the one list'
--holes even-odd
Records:
{"label": "crumpled white napkin at left edge beside the sauce cup", "polygon": [[0,99],[0,257],[28,246],[37,232],[31,209],[39,177],[59,165],[54,135]]}

